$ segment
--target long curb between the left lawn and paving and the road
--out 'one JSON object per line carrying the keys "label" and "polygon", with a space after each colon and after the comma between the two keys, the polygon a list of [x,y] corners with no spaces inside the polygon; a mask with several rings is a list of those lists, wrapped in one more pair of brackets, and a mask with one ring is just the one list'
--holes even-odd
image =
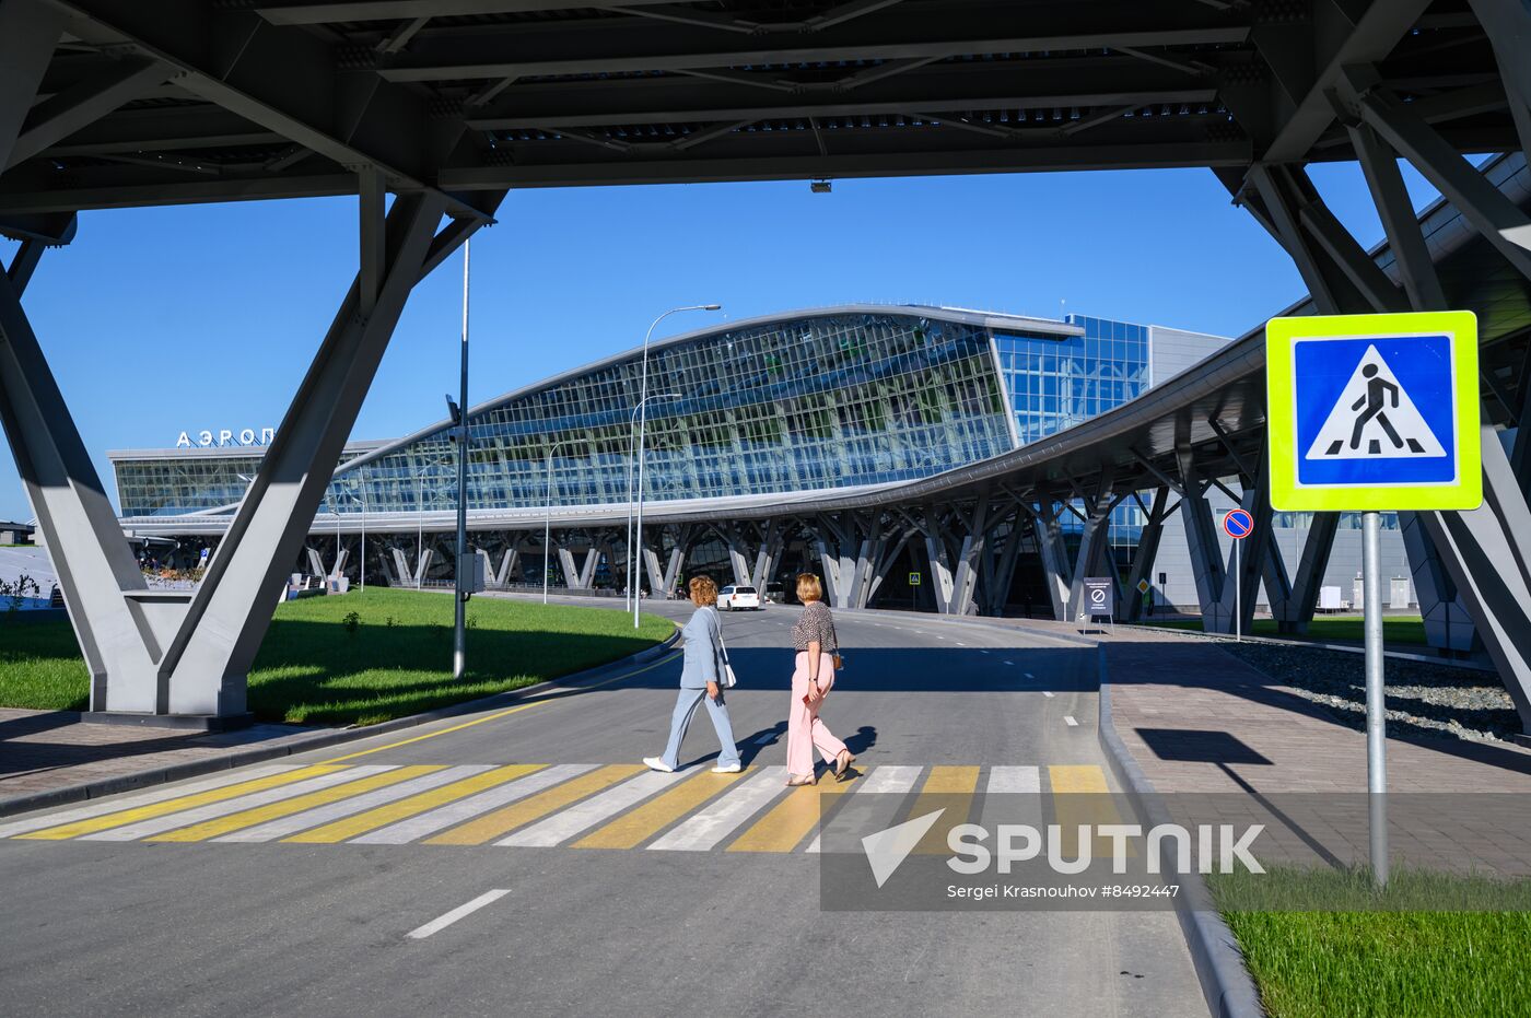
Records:
{"label": "long curb between the left lawn and paving and the road", "polygon": [[626,667],[629,664],[648,664],[649,661],[655,661],[669,654],[677,643],[680,643],[678,626],[663,643],[657,643],[652,648],[638,651],[637,654],[629,654],[625,658],[617,658],[615,661],[608,661],[606,664],[588,667],[583,672],[573,672],[570,675],[560,675],[559,678],[548,678],[540,683],[534,683],[531,686],[522,686],[521,689],[510,689],[502,693],[495,693],[491,697],[481,697],[478,700],[468,700],[447,707],[436,707],[435,710],[426,710],[423,713],[412,713],[407,718],[393,718],[392,721],[383,721],[380,724],[369,724],[366,727],[357,727],[357,729],[325,729],[308,735],[291,736],[289,741],[285,741],[280,746],[251,746],[250,749],[234,750],[231,753],[224,753],[220,756],[190,759],[184,764],[170,764],[168,767],[149,767],[144,770],[132,772],[129,775],[115,775],[112,778],[98,778],[96,781],[83,781],[78,785],[66,785],[63,788],[49,788],[47,791],[32,791],[28,794],[9,796],[0,799],[0,816],[31,813],[32,810],[46,810],[49,807],[66,805],[69,802],[84,802],[87,799],[100,799],[103,796],[118,794],[121,791],[132,791],[135,788],[145,788],[149,785],[162,785],[171,781],[199,778],[202,775],[210,775],[217,770],[233,770],[234,767],[260,764],[268,759],[280,759],[282,756],[295,756],[297,753],[308,753],[312,750],[326,749],[329,746],[340,746],[343,742],[369,739],[374,735],[387,735],[389,732],[413,729],[421,724],[430,724],[432,721],[456,718],[465,713],[476,713],[479,710],[490,710],[493,707],[516,703],[517,700],[525,700],[528,693],[533,693],[547,686],[591,678],[606,671]]}

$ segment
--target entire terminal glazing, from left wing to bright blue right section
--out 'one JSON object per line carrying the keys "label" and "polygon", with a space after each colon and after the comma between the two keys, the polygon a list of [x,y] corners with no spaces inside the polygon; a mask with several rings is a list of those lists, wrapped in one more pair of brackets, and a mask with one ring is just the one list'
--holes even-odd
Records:
{"label": "entire terminal glazing, from left wing to bright blue right section", "polygon": [[[1148,328],[935,308],[784,315],[651,347],[646,498],[814,491],[935,475],[1036,441],[1148,387]],[[1007,328],[1012,326],[1012,328]],[[468,418],[468,508],[629,501],[635,354],[511,393]],[[375,444],[369,444],[375,447]],[[348,450],[346,459],[357,449]],[[113,455],[124,516],[237,502],[253,455]],[[337,475],[322,513],[455,508],[436,430]],[[1136,539],[1136,507],[1113,534]],[[1133,516],[1131,520],[1127,517]]]}

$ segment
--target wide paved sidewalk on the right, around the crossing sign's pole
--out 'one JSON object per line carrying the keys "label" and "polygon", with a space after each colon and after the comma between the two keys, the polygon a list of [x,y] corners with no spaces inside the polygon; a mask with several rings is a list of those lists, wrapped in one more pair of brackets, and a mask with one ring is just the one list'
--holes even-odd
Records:
{"label": "wide paved sidewalk on the right, around the crossing sign's pole", "polygon": [[[1194,637],[1118,631],[1101,643],[1116,733],[1171,814],[1262,822],[1266,862],[1366,862],[1363,732]],[[1526,799],[1494,794],[1531,793],[1531,750],[1390,736],[1387,787],[1395,865],[1531,874]]]}

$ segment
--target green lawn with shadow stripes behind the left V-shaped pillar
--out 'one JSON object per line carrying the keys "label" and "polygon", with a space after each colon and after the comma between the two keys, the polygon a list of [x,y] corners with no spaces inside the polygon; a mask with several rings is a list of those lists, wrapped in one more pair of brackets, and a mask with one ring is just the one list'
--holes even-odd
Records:
{"label": "green lawn with shadow stripes behind the left V-shaped pillar", "polygon": [[[67,622],[0,625],[0,706],[87,706]],[[377,724],[612,661],[672,629],[657,615],[634,631],[622,611],[476,597],[467,680],[453,683],[452,597],[383,588],[306,597],[277,608],[250,672],[250,709],[263,721]]]}

